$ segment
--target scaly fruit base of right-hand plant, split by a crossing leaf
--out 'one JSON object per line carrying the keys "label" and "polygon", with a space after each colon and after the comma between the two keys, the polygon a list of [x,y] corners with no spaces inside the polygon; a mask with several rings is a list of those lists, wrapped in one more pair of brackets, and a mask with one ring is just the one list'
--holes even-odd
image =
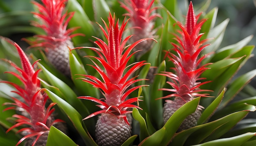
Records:
{"label": "scaly fruit base of right-hand plant, split by a crossing leaf", "polygon": [[[179,98],[175,98],[174,101],[172,100],[168,100],[165,104],[164,104],[164,123],[167,122],[167,120],[173,115],[173,113],[175,111],[177,111],[178,108],[180,108],[184,102],[183,100],[180,101],[181,99]],[[195,125],[197,125],[197,121],[201,116],[201,111],[202,108],[200,108],[200,106],[195,110],[194,113],[192,113],[191,115],[189,115],[188,117],[186,117],[186,119],[184,119],[184,121],[182,122],[182,124],[180,125],[179,129],[177,130],[177,132],[189,129]]]}

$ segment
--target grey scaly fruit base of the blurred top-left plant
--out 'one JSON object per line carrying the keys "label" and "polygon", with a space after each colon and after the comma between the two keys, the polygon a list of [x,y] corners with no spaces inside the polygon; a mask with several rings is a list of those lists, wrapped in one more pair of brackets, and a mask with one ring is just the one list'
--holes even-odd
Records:
{"label": "grey scaly fruit base of the blurred top-left plant", "polygon": [[55,48],[46,52],[49,62],[64,75],[70,76],[69,48],[74,48],[71,40],[56,43]]}

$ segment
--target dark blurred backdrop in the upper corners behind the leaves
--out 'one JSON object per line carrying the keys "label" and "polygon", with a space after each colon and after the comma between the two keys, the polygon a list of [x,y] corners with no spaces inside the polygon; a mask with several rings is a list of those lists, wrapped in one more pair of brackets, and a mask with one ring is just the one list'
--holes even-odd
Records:
{"label": "dark blurred backdrop in the upper corners behind the leaves", "polygon": [[[205,1],[207,0],[192,0],[195,9],[199,9],[200,3]],[[28,45],[20,39],[40,31],[29,24],[31,20],[34,20],[30,13],[34,11],[34,8],[30,2],[31,0],[0,0],[0,35],[17,42],[23,49]],[[179,2],[184,4],[183,0]],[[255,2],[256,0],[211,0],[208,11],[218,7],[216,24],[227,18],[230,19],[220,47],[234,44],[249,35],[256,34]],[[249,44],[255,45],[256,37]],[[253,53],[256,54],[256,49]],[[238,74],[252,69],[256,69],[256,57],[252,57]],[[256,79],[251,84],[256,88]]]}

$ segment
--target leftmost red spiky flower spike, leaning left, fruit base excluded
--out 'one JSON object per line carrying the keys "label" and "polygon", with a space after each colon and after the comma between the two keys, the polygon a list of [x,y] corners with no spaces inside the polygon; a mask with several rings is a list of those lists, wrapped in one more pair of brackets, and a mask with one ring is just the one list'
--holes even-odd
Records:
{"label": "leftmost red spiky flower spike, leaning left, fruit base excluded", "polygon": [[11,66],[13,66],[20,74],[15,72],[7,72],[14,76],[16,76],[24,86],[19,86],[18,84],[15,84],[13,82],[8,81],[2,81],[4,83],[10,84],[11,86],[16,88],[16,91],[12,91],[24,100],[24,102],[20,101],[19,99],[16,99],[12,97],[14,100],[14,103],[4,103],[3,105],[14,105],[10,106],[4,109],[4,111],[9,109],[16,109],[16,107],[23,108],[28,114],[29,117],[26,117],[24,115],[13,115],[13,117],[16,117],[16,124],[11,126],[7,130],[7,132],[11,131],[13,128],[23,126],[23,125],[29,125],[27,128],[21,128],[17,133],[20,132],[27,132],[28,134],[25,135],[20,141],[16,144],[20,144],[23,140],[27,139],[28,137],[36,137],[36,140],[33,143],[36,144],[36,141],[39,139],[40,135],[43,133],[49,131],[50,126],[56,122],[62,122],[60,119],[56,119],[54,121],[51,120],[51,114],[54,112],[54,109],[51,109],[55,103],[51,103],[47,109],[45,109],[45,103],[48,99],[48,96],[41,91],[40,88],[40,80],[38,80],[38,73],[40,70],[34,71],[33,66],[30,64],[29,59],[25,55],[25,53],[22,51],[20,46],[18,44],[13,43],[13,45],[16,47],[18,54],[20,56],[22,69],[18,67],[16,64],[12,63],[11,61],[8,61]]}

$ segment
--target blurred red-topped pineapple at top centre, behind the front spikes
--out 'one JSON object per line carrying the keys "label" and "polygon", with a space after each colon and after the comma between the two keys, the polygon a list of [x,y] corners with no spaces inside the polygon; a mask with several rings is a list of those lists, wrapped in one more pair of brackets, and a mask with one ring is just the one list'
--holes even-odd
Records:
{"label": "blurred red-topped pineapple at top centre, behind the front spikes", "polygon": [[[124,0],[121,3],[121,7],[126,9],[128,13],[124,14],[130,17],[130,23],[132,26],[132,34],[134,35],[130,42],[134,43],[137,40],[143,38],[155,38],[154,33],[154,19],[161,16],[155,12],[157,7],[152,7],[154,0]],[[139,43],[135,47],[135,51],[141,50],[135,55],[139,58],[141,55],[146,53],[153,43],[153,40],[146,40]]]}

